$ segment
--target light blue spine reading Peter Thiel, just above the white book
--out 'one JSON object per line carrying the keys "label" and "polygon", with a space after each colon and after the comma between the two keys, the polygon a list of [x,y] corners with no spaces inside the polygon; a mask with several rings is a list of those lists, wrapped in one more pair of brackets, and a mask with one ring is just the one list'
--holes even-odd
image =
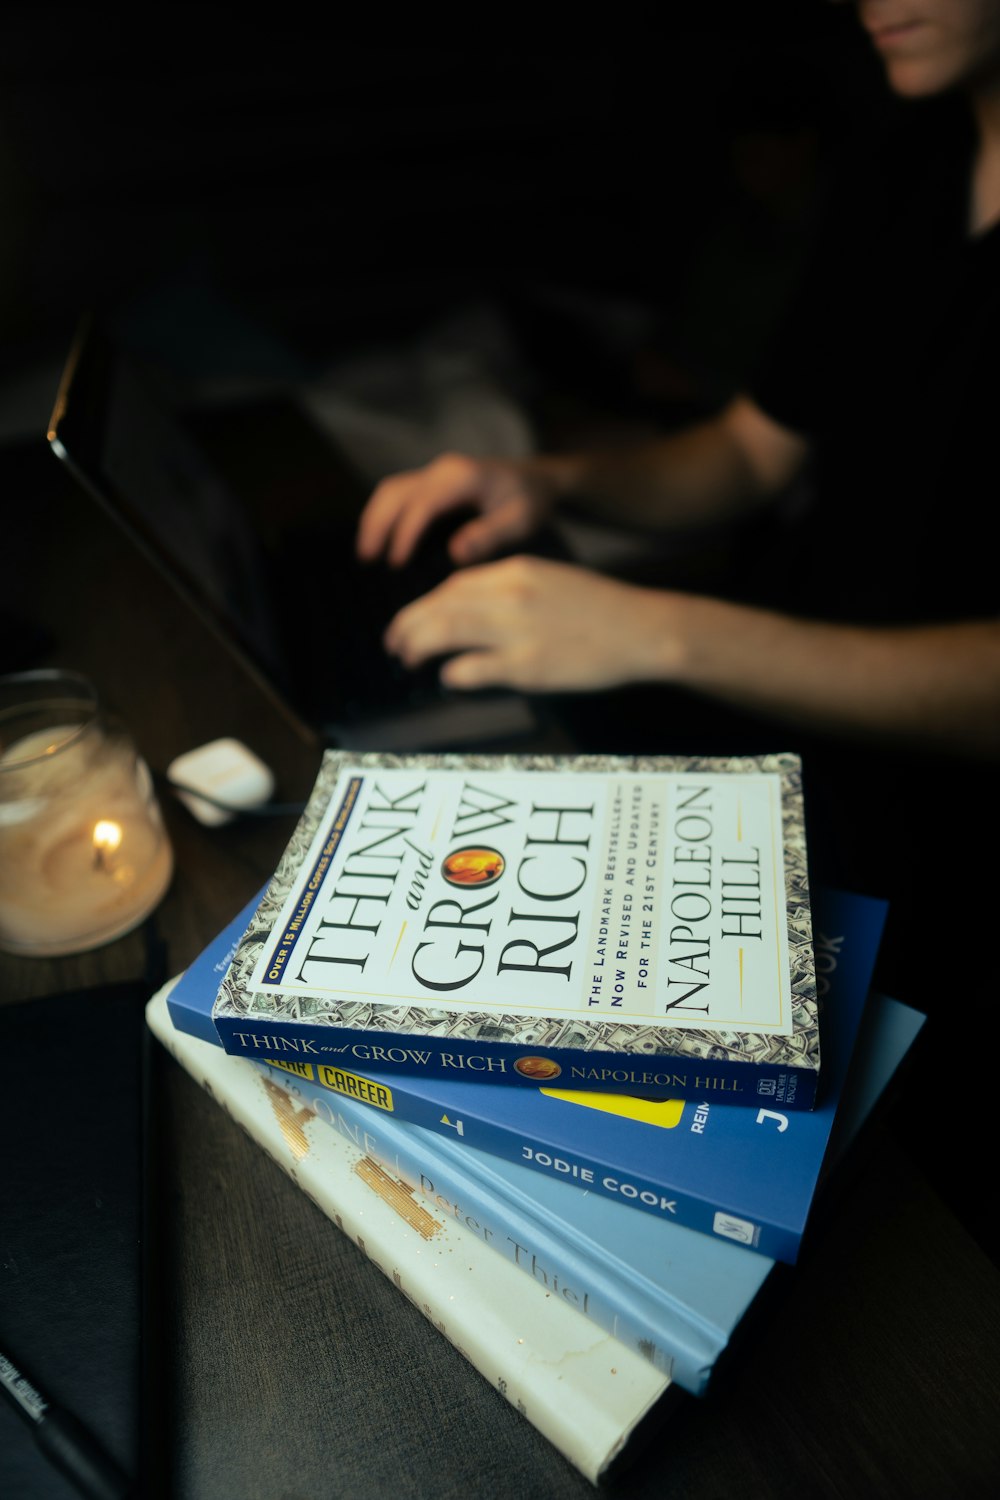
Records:
{"label": "light blue spine reading Peter Thiel, just above the white book", "polygon": [[304,1096],[295,1080],[286,1086],[306,1107],[319,1104],[327,1125],[471,1228],[550,1296],[568,1302],[685,1390],[706,1390],[724,1338],[703,1320],[693,1320],[666,1288],[637,1282],[621,1262],[609,1256],[604,1263],[571,1236],[552,1232],[505,1182],[490,1178],[489,1167],[483,1170],[480,1162],[481,1176],[466,1172],[460,1152],[435,1149],[436,1137],[420,1126],[384,1119],[352,1100],[331,1104],[316,1100],[315,1090]]}

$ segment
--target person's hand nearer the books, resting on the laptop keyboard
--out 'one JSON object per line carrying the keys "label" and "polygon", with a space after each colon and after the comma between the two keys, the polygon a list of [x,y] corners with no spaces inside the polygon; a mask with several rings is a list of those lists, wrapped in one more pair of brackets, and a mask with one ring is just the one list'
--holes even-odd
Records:
{"label": "person's hand nearer the books, resting on the laptop keyboard", "polygon": [[453,573],[400,609],[385,648],[406,666],[448,656],[448,687],[615,687],[667,675],[679,602],[567,562],[504,558]]}

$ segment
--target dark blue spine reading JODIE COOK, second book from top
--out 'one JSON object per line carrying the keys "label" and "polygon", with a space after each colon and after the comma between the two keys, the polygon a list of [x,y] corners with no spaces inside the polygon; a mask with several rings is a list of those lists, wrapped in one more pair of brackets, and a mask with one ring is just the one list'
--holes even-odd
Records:
{"label": "dark blue spine reading JODIE COOK, second book from top", "polygon": [[[276,1077],[285,1082],[291,1072],[301,1098],[325,1119],[331,1118],[331,1113],[339,1107],[339,1098],[345,1096],[343,1088],[324,1088],[324,1084],[303,1076],[294,1064],[271,1062],[267,1066]],[[343,1076],[340,1070],[337,1071]],[[442,1108],[441,1101],[408,1094],[405,1088],[399,1088],[396,1083],[390,1090],[381,1080],[349,1077],[354,1078],[354,1086],[364,1095],[360,1102],[370,1112],[372,1130],[375,1132],[378,1132],[376,1120],[379,1112],[385,1107],[385,1104],[379,1104],[378,1098],[382,1094],[387,1095],[391,1114],[397,1120],[405,1120],[408,1125],[420,1125],[423,1130],[441,1136],[442,1140],[460,1143],[472,1150],[487,1152],[492,1156],[499,1156],[502,1161],[514,1161],[517,1166],[529,1167],[541,1176],[555,1176],[586,1192],[597,1192],[612,1203],[624,1203],[628,1208],[651,1214],[664,1222],[684,1224],[685,1228],[693,1228],[700,1234],[715,1236],[720,1233],[718,1215],[735,1214],[739,1220],[745,1218],[741,1210],[732,1206],[697,1197],[693,1192],[679,1192],[661,1180],[609,1166],[597,1156],[585,1154],[568,1156],[565,1152],[553,1149],[540,1136],[528,1136],[525,1131],[514,1130],[505,1122],[499,1124],[496,1120],[480,1119],[474,1114],[462,1114],[454,1107]],[[352,1095],[346,1094],[346,1096],[351,1098]],[[741,1240],[747,1250],[768,1256],[771,1260],[795,1263],[802,1240],[801,1233],[768,1222],[757,1222],[754,1228],[756,1239],[753,1244],[747,1239]],[[726,1238],[736,1236],[730,1233]]]}

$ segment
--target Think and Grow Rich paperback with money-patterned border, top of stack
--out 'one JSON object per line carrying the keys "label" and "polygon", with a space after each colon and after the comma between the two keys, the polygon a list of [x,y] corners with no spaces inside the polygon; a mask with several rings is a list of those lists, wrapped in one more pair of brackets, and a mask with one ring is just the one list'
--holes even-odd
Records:
{"label": "Think and Grow Rich paperback with money-patterned border, top of stack", "polygon": [[258,1058],[808,1110],[799,760],[328,752],[213,1022]]}

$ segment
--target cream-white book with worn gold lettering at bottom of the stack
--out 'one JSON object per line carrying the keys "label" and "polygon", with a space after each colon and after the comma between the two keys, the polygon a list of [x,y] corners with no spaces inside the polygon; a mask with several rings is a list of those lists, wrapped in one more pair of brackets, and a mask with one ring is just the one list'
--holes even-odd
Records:
{"label": "cream-white book with worn gold lettering at bottom of the stack", "polygon": [[174,1029],[166,1010],[174,982],[145,1011],[166,1050],[438,1332],[598,1484],[670,1378],[426,1198],[414,1200],[402,1185],[396,1191],[360,1146],[297,1101],[279,1118],[288,1095],[252,1062]]}

